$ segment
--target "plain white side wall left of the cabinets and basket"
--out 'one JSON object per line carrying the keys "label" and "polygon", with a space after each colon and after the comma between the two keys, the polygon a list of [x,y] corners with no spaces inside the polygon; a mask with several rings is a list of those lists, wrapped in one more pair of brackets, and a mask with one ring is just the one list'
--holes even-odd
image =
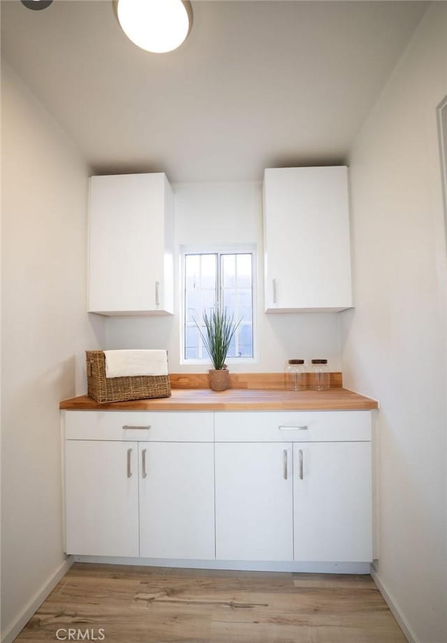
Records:
{"label": "plain white side wall left of the cabinets and basket", "polygon": [[2,637],[64,561],[59,401],[104,342],[86,293],[88,168],[2,65]]}

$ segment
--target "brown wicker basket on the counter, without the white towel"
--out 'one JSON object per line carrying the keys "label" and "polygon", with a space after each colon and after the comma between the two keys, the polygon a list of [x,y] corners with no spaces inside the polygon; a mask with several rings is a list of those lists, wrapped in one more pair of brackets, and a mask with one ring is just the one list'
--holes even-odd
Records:
{"label": "brown wicker basket on the counter, without the white towel", "polygon": [[96,402],[126,402],[170,397],[168,375],[105,377],[103,351],[86,351],[88,394]]}

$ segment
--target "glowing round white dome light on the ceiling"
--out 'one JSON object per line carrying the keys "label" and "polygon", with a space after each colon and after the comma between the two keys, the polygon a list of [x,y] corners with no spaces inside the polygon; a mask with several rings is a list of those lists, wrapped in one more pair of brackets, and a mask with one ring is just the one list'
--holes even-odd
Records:
{"label": "glowing round white dome light on the ceiling", "polygon": [[188,35],[189,17],[182,0],[119,0],[117,11],[124,34],[146,51],[172,51]]}

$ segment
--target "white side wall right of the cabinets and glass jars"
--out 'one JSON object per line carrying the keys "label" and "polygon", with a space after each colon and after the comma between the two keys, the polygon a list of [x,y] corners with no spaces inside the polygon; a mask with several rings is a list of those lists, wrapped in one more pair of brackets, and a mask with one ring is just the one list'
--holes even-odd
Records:
{"label": "white side wall right of the cabinets and glass jars", "polygon": [[349,388],[381,403],[378,579],[420,643],[447,641],[446,247],[436,108],[447,3],[433,3],[351,153],[356,310]]}

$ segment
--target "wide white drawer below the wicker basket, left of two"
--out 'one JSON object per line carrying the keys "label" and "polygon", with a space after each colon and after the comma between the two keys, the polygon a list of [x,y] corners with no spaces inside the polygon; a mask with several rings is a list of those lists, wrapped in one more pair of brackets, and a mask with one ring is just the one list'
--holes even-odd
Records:
{"label": "wide white drawer below the wicker basket, left of two", "polygon": [[66,411],[67,440],[213,442],[213,414],[171,411]]}

